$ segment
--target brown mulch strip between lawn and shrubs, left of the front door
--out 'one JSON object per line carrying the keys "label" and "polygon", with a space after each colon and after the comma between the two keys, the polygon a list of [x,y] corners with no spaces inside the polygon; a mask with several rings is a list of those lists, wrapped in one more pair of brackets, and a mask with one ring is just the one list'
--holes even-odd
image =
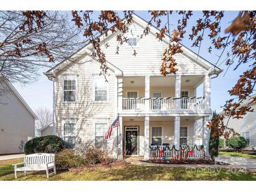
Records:
{"label": "brown mulch strip between lawn and shrubs, left of the front door", "polygon": [[84,167],[77,167],[77,168],[70,168],[69,171],[72,172],[79,172],[81,170],[95,170],[98,168],[113,168],[113,167],[121,167],[121,166],[127,166],[131,165],[130,163],[124,161],[124,160],[116,160],[113,161],[112,163],[109,163],[107,165],[102,165],[100,163],[94,164],[94,165],[87,165]]}

